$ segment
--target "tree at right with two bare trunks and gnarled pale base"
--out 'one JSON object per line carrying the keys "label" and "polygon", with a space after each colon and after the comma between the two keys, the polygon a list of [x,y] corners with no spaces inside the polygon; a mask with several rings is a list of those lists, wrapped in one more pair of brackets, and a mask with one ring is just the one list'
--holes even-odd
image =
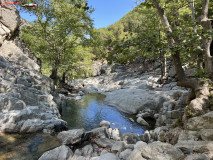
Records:
{"label": "tree at right with two bare trunks and gnarled pale base", "polygon": [[[184,70],[181,65],[180,53],[175,49],[176,41],[174,39],[174,34],[172,27],[168,21],[165,10],[161,7],[160,2],[158,0],[152,0],[153,5],[157,10],[157,14],[161,19],[161,22],[166,30],[167,39],[169,41],[169,47],[172,51],[172,58],[175,66],[175,70],[178,76],[179,85],[188,87],[192,89],[192,95],[195,96],[189,107],[185,110],[184,120],[187,118],[188,110],[190,110],[194,115],[199,115],[204,112],[204,108],[208,106],[208,96],[209,96],[209,88],[208,81],[202,81],[198,78],[188,78],[185,76]],[[209,31],[212,30],[212,26],[210,20],[208,19],[208,7],[209,0],[203,0],[202,12],[199,17],[199,22],[203,27],[202,33],[202,41],[204,46],[203,54],[205,56],[205,67],[209,78],[212,80],[212,56],[210,55],[210,44],[212,41],[212,36],[209,35]],[[208,34],[208,36],[207,36]]]}

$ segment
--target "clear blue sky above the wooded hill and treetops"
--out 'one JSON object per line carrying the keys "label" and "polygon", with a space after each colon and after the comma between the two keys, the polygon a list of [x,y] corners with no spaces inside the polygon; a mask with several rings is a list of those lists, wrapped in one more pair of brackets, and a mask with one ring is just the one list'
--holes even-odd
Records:
{"label": "clear blue sky above the wooded hill and treetops", "polygon": [[[135,0],[89,0],[88,3],[95,9],[91,17],[97,29],[115,23],[136,6]],[[28,13],[20,12],[20,15],[28,21],[35,19]]]}

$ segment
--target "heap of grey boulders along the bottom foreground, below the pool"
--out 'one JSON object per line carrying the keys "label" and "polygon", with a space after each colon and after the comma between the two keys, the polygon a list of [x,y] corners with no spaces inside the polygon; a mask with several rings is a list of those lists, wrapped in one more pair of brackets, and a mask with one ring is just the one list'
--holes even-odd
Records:
{"label": "heap of grey boulders along the bottom foreground, below the pool", "polygon": [[[110,126],[109,126],[110,127]],[[100,128],[94,129],[101,130]],[[120,140],[113,139],[110,136],[112,128],[105,128],[108,130],[108,136],[101,137],[102,134],[93,134],[92,137],[87,136],[87,132],[78,134],[77,143],[66,143],[64,141],[62,146],[53,150],[45,152],[39,160],[54,159],[53,155],[61,160],[146,160],[146,159],[178,159],[183,156],[183,152],[177,147],[168,143],[153,142],[145,143],[139,138],[139,135],[134,133],[126,133],[121,136]],[[77,133],[80,130],[69,130],[66,133]],[[81,130],[83,131],[83,130]],[[59,137],[64,139],[72,137],[71,134],[65,135],[65,132],[58,134]],[[111,137],[111,138],[110,138]],[[70,151],[73,149],[74,153]],[[63,154],[62,154],[63,153]]]}

